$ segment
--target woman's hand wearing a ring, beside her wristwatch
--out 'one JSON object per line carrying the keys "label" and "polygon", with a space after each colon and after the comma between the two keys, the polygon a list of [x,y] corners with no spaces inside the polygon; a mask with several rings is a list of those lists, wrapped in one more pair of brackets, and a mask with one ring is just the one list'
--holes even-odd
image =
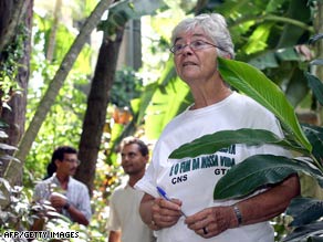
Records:
{"label": "woman's hand wearing a ring, beside her wristwatch", "polygon": [[231,207],[212,207],[187,217],[185,223],[200,236],[211,238],[232,228],[236,220]]}

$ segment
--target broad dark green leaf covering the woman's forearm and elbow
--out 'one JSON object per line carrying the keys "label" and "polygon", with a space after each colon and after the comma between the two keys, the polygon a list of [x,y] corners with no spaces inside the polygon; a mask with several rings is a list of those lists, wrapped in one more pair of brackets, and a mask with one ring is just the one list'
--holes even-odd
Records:
{"label": "broad dark green leaf covering the woman's forearm and elbow", "polygon": [[306,160],[273,155],[251,156],[228,170],[216,185],[213,198],[242,198],[263,186],[278,183],[298,171],[310,173],[321,183],[323,181],[322,172]]}

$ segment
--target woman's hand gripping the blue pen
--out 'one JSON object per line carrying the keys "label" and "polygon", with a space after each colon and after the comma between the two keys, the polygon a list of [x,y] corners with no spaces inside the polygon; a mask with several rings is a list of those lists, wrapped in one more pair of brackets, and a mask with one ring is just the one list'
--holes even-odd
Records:
{"label": "woman's hand gripping the blue pen", "polygon": [[152,229],[159,230],[177,223],[181,217],[181,201],[171,199],[167,201],[163,198],[156,198],[152,206]]}

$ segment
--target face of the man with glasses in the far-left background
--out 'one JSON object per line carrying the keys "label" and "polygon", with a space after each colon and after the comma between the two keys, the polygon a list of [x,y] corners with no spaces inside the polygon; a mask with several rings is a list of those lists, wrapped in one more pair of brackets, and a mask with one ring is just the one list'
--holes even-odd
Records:
{"label": "face of the man with glasses in the far-left background", "polygon": [[56,160],[56,173],[65,176],[74,176],[79,166],[76,154],[64,154],[63,160]]}

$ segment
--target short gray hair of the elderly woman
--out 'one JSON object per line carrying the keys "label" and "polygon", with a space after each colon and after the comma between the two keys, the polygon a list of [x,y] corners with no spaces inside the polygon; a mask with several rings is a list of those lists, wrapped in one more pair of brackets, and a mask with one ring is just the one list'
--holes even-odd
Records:
{"label": "short gray hair of the elderly woman", "polygon": [[219,46],[218,52],[220,56],[230,54],[235,57],[233,43],[230,32],[227,28],[225,18],[219,13],[202,13],[194,18],[188,18],[179,22],[171,33],[171,43],[175,44],[177,35],[181,32],[187,32],[200,28],[207,36],[209,36],[213,44]]}

